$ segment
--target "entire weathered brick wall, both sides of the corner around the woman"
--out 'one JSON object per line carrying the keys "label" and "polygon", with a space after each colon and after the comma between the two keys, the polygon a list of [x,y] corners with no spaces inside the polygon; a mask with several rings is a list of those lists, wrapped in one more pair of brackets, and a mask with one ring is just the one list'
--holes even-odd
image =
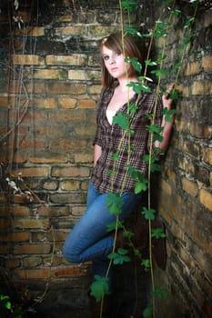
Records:
{"label": "entire weathered brick wall, both sides of the corner around the woman", "polygon": [[[0,15],[5,58],[0,69],[3,278],[38,297],[51,279],[56,289],[69,288],[65,298],[70,302],[73,297],[85,301],[90,281],[89,264],[66,263],[61,251],[86,207],[101,89],[96,41],[120,27],[118,3],[100,3],[20,5],[17,14],[25,25],[19,29],[12,21],[11,33],[6,31],[6,5]],[[160,5],[156,8],[157,14]],[[189,5],[179,8],[190,15]],[[143,9],[143,15],[132,15],[136,25],[146,13],[153,15],[148,5]],[[167,69],[179,58],[180,27],[176,18],[167,42]],[[193,38],[177,85],[174,134],[154,194],[167,225],[168,254],[167,270],[156,269],[157,283],[169,290],[158,303],[158,314],[170,318],[176,313],[209,317],[212,302],[211,10],[199,9]],[[156,52],[160,45],[158,40]],[[6,190],[6,171],[15,175],[24,194]],[[33,202],[26,190],[34,193]]]}

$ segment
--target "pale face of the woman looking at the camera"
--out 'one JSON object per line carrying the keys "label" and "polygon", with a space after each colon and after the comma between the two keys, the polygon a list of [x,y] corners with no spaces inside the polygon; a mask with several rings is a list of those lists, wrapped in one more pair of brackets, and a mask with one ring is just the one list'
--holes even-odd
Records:
{"label": "pale face of the woman looking at the camera", "polygon": [[102,58],[106,65],[108,73],[117,79],[126,78],[126,72],[130,65],[125,62],[124,55],[117,54],[105,45],[102,46]]}

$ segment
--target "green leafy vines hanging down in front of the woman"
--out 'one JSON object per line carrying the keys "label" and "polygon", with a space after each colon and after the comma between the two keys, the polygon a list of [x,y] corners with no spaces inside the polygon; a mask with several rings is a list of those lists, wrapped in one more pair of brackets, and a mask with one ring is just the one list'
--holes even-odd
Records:
{"label": "green leafy vines hanging down in front of the woman", "polygon": [[[165,90],[161,89],[161,82],[162,79],[166,79],[168,82],[170,78],[168,77],[169,74],[172,75],[174,78],[174,85],[173,87],[177,87],[177,81],[180,75],[180,71],[183,65],[183,61],[185,58],[185,55],[187,54],[187,45],[190,44],[191,41],[191,35],[192,35],[192,27],[195,21],[195,17],[197,15],[197,0],[190,0],[190,5],[192,5],[193,13],[191,16],[188,16],[186,19],[185,25],[183,25],[183,41],[182,44],[178,47],[178,52],[180,59],[177,61],[175,65],[171,67],[171,69],[167,70],[164,67],[164,62],[166,60],[166,48],[167,48],[167,38],[170,33],[170,28],[173,24],[173,20],[177,17],[180,17],[182,15],[181,10],[177,7],[176,1],[174,0],[164,0],[163,1],[163,8],[161,10],[162,14],[159,16],[158,19],[154,22],[151,29],[148,29],[147,32],[141,32],[139,29],[137,29],[135,26],[132,26],[131,23],[131,14],[135,12],[138,7],[139,3],[134,0],[126,0],[126,1],[119,1],[119,7],[120,7],[120,29],[121,34],[124,40],[124,37],[126,35],[136,35],[141,38],[141,40],[148,40],[148,48],[147,48],[147,56],[145,61],[144,69],[142,69],[142,65],[136,60],[135,57],[129,58],[126,56],[126,63],[131,63],[134,68],[136,68],[137,71],[142,73],[138,77],[139,83],[129,83],[128,87],[133,87],[133,90],[135,91],[138,96],[142,94],[143,92],[151,92],[149,82],[153,81],[153,78],[156,78],[156,102],[154,105],[154,111],[153,114],[148,115],[148,119],[151,121],[152,124],[149,124],[146,126],[146,129],[150,135],[151,143],[150,143],[150,149],[149,154],[146,154],[142,160],[146,161],[148,163],[148,174],[147,178],[145,178],[141,173],[136,171],[132,166],[129,165],[129,162],[126,164],[126,174],[131,174],[132,178],[136,181],[135,184],[135,193],[139,194],[141,192],[144,192],[147,190],[148,193],[148,200],[147,200],[147,206],[144,206],[141,214],[144,215],[146,220],[148,221],[148,228],[149,228],[149,258],[143,259],[142,253],[140,251],[136,250],[136,247],[133,246],[133,243],[131,241],[131,237],[133,233],[130,231],[126,231],[125,225],[123,223],[120,223],[118,215],[121,213],[121,206],[122,206],[122,199],[121,199],[121,193],[120,194],[113,194],[113,174],[116,171],[116,160],[118,158],[119,151],[121,147],[123,146],[122,141],[117,147],[116,154],[114,155],[114,166],[112,171],[110,171],[111,174],[111,193],[108,194],[107,199],[107,207],[110,214],[116,215],[116,223],[115,224],[108,224],[109,231],[114,230],[115,231],[115,243],[113,246],[113,250],[111,253],[109,253],[108,258],[110,259],[110,263],[108,266],[106,277],[100,277],[96,276],[96,281],[92,283],[91,285],[91,294],[96,297],[96,301],[101,301],[101,308],[103,308],[104,303],[104,296],[109,293],[108,288],[108,282],[107,282],[107,275],[109,273],[109,270],[111,268],[112,264],[123,264],[125,262],[130,261],[130,257],[128,255],[127,249],[119,248],[116,250],[116,235],[119,228],[124,229],[124,234],[126,237],[128,237],[129,245],[133,247],[134,253],[136,257],[140,259],[140,263],[142,266],[146,268],[146,270],[149,271],[150,277],[151,277],[151,302],[146,306],[146,309],[143,312],[143,317],[145,318],[155,318],[156,317],[156,298],[163,298],[167,295],[167,289],[165,289],[163,286],[156,286],[155,284],[155,277],[154,277],[154,265],[152,260],[152,239],[156,238],[164,238],[166,234],[163,232],[162,229],[156,228],[153,229],[151,226],[151,223],[156,218],[156,210],[152,208],[151,203],[151,174],[155,171],[159,170],[159,164],[158,164],[158,156],[161,154],[161,151],[159,148],[154,149],[153,144],[157,142],[161,142],[163,140],[163,128],[161,128],[159,125],[155,124],[155,115],[156,115],[156,105],[158,101],[159,94],[165,94]],[[127,16],[127,25],[124,25],[124,17],[123,15],[126,14]],[[161,48],[160,55],[157,55],[154,60],[150,59],[150,52],[152,50],[152,45],[154,43],[154,40],[162,39],[163,45]],[[124,41],[123,41],[124,42]],[[124,46],[123,46],[124,51]],[[147,72],[148,71],[148,72]],[[150,74],[150,77],[147,76],[147,73]],[[152,76],[152,77],[151,77]],[[170,92],[170,98],[173,100],[177,100],[178,98],[178,92],[176,88],[173,88]],[[133,119],[133,116],[136,112],[136,104],[130,104],[128,101],[128,109],[127,114],[123,114],[122,112],[119,112],[116,114],[113,123],[118,124],[123,130],[124,135],[127,135],[129,144],[128,144],[128,158],[130,157],[131,147],[130,147],[130,135],[133,134],[130,124]],[[166,123],[173,121],[173,116],[176,114],[175,109],[168,110],[167,108],[164,109],[163,115],[165,118]],[[122,184],[122,189],[124,189],[125,183]],[[102,311],[100,313],[100,317],[102,317]]]}

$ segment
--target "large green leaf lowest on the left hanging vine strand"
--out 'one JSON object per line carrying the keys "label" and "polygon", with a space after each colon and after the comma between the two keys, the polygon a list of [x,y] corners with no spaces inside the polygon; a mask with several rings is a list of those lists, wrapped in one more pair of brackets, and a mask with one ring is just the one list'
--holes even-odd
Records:
{"label": "large green leaf lowest on the left hanging vine strand", "polygon": [[100,302],[105,294],[109,294],[108,277],[95,275],[95,282],[91,284],[91,295],[96,298],[96,302]]}

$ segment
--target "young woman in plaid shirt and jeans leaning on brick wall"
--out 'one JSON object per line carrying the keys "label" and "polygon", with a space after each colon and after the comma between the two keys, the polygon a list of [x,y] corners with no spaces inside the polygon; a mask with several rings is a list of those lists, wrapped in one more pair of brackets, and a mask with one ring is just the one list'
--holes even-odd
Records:
{"label": "young woman in plaid shirt and jeans leaning on brick wall", "polygon": [[[116,221],[116,215],[108,211],[108,194],[121,196],[120,221],[125,220],[141,202],[144,194],[135,194],[136,181],[128,167],[146,176],[147,163],[142,157],[148,154],[151,140],[146,125],[151,124],[149,118],[154,113],[155,104],[154,122],[165,125],[162,111],[163,107],[170,108],[171,100],[158,96],[156,102],[156,86],[153,84],[149,85],[150,93],[135,93],[133,85],[139,84],[139,74],[125,57],[136,57],[142,63],[142,56],[132,38],[125,36],[123,42],[119,34],[106,36],[101,42],[100,53],[103,90],[96,120],[94,169],[87,193],[86,212],[67,236],[64,255],[71,263],[92,261],[94,275],[104,277],[109,263],[107,255],[115,243],[106,227]],[[172,86],[168,93],[171,89]],[[136,104],[136,111],[130,112],[132,104]],[[121,113],[130,116],[133,134],[126,134],[120,124],[115,124]],[[167,149],[171,127],[172,123],[166,124],[163,141],[154,146]],[[112,174],[109,173],[111,171]],[[108,283],[112,290],[112,270],[108,274]]]}

